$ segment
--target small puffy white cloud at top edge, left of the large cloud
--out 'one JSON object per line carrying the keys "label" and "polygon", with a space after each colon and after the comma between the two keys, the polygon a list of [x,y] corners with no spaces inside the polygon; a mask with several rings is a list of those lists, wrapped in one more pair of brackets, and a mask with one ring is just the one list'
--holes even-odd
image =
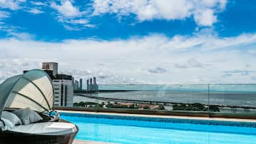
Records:
{"label": "small puffy white cloud at top edge, left of the large cloud", "polygon": [[51,6],[53,9],[56,9],[60,14],[62,14],[62,16],[65,17],[77,17],[81,15],[79,8],[73,6],[71,1],[69,0],[61,1],[60,5],[52,2]]}

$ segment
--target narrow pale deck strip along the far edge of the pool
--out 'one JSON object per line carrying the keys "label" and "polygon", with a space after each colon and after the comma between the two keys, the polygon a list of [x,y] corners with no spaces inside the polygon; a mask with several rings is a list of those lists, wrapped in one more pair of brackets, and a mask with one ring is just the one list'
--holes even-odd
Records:
{"label": "narrow pale deck strip along the far edge of the pool", "polygon": [[84,113],[84,114],[92,114],[92,115],[118,115],[118,116],[135,116],[135,117],[161,117],[161,118],[175,118],[175,119],[189,119],[189,120],[218,120],[218,121],[229,121],[229,122],[256,123],[256,120],[252,120],[252,119],[238,119],[238,118],[191,117],[191,116],[174,116],[174,115],[142,115],[142,114],[128,114],[128,113],[114,113],[114,112],[86,112],[86,111],[72,111],[72,110],[58,110],[58,112]]}

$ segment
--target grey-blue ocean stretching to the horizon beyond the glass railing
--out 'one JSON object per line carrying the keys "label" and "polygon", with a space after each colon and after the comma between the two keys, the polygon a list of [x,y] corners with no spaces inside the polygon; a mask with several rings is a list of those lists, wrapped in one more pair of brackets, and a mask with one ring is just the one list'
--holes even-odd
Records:
{"label": "grey-blue ocean stretching to the horizon beyond the glass railing", "polygon": [[[256,107],[256,85],[99,85],[98,97]],[[114,91],[117,92],[114,92]],[[120,92],[118,90],[123,90]],[[209,96],[209,100],[208,100]],[[85,97],[75,97],[75,102]]]}

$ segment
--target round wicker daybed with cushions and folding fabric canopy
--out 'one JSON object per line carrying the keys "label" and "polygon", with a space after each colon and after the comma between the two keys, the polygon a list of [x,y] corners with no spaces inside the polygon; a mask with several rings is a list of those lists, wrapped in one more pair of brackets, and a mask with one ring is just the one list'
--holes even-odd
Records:
{"label": "round wicker daybed with cushions and folding fabric canopy", "polygon": [[78,128],[50,117],[53,102],[52,80],[42,70],[1,83],[0,144],[71,144]]}

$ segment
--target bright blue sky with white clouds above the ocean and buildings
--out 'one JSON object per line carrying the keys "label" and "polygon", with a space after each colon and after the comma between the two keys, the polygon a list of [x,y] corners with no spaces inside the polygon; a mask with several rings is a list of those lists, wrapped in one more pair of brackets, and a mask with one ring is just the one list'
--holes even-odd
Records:
{"label": "bright blue sky with white clouds above the ocean and buildings", "polygon": [[58,62],[98,82],[256,83],[256,1],[0,0],[0,81]]}

